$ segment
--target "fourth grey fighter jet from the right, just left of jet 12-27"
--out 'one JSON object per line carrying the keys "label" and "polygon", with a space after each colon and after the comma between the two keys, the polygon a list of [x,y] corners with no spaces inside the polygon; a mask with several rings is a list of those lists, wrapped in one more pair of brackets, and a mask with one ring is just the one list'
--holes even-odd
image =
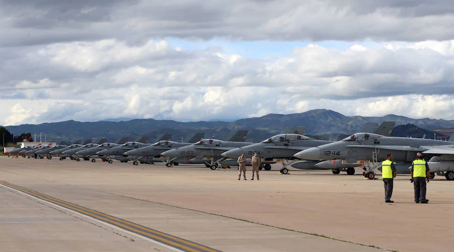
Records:
{"label": "fourth grey fighter jet from the right, just left of jet 12-27", "polygon": [[[171,149],[176,149],[188,145],[192,145],[193,143],[196,143],[198,140],[203,138],[205,136],[205,133],[197,133],[195,134],[191,139],[188,140],[186,143],[178,143],[174,141],[158,141],[150,146],[145,146],[141,147],[138,149],[133,149],[130,151],[127,151],[123,153],[123,157],[132,157],[133,164],[138,165],[138,161],[140,159],[144,159],[144,161],[141,161],[142,163],[147,162],[147,163],[153,163],[155,161],[157,162],[162,162],[165,160],[165,157],[161,157],[161,153],[167,150]],[[184,162],[186,159],[182,159],[180,161]],[[172,165],[178,165],[179,162],[177,160],[174,160],[173,162],[167,163],[168,167],[171,167]]]}

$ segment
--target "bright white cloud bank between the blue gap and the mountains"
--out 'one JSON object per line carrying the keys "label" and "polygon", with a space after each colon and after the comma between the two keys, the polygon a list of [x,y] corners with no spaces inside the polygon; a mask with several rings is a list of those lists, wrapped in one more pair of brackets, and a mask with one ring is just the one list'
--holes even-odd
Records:
{"label": "bright white cloud bank between the blue gap and the mountains", "polygon": [[[2,123],[121,116],[236,119],[320,107],[454,118],[452,44],[346,49],[309,44],[287,57],[265,59],[176,48],[164,40],[141,46],[117,40],[40,46],[0,66],[0,98],[21,115],[6,116]],[[33,103],[21,102],[21,109],[11,105],[24,98],[46,102],[38,110]]]}

